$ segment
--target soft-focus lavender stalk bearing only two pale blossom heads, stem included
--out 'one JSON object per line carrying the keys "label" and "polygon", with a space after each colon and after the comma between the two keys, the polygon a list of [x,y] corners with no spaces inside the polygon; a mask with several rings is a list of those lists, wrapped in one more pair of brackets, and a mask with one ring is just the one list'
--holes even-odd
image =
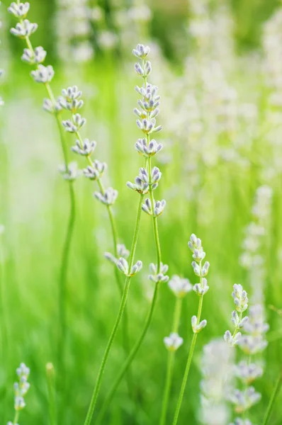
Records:
{"label": "soft-focus lavender stalk bearing only two pale blossom heads, stem included", "polygon": [[162,413],[161,418],[159,420],[159,425],[164,425],[166,423],[175,354],[179,346],[183,344],[183,339],[178,334],[179,323],[181,318],[182,301],[185,295],[192,290],[192,285],[188,279],[180,278],[179,276],[174,275],[172,276],[171,280],[169,280],[169,288],[171,288],[172,292],[176,296],[176,302],[174,307],[174,317],[171,334],[164,338],[164,345],[167,347],[169,353],[167,357],[167,377],[164,385]]}

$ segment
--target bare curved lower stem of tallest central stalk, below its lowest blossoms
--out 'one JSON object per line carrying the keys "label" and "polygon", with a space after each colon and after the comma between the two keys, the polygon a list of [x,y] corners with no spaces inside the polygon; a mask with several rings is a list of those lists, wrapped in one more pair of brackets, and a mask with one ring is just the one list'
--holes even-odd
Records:
{"label": "bare curved lower stem of tallest central stalk, below its lowest blossoms", "polygon": [[156,304],[157,304],[158,293],[159,293],[159,283],[156,283],[155,286],[154,286],[154,295],[153,295],[153,298],[152,298],[150,311],[147,315],[145,326],[142,329],[142,333],[140,335],[140,338],[136,341],[135,346],[133,346],[132,350],[130,351],[130,355],[126,359],[125,363],[123,364],[123,367],[120,370],[120,373],[118,374],[117,378],[115,379],[115,382],[113,383],[113,386],[111,387],[111,390],[108,393],[105,402],[103,402],[101,412],[98,414],[98,417],[97,417],[97,420],[96,420],[98,424],[101,424],[103,417],[106,414],[106,411],[108,409],[108,406],[111,403],[113,396],[115,395],[115,391],[118,389],[118,385],[120,385],[121,380],[123,380],[123,376],[127,372],[128,368],[130,368],[132,361],[134,360],[137,352],[139,351],[140,346],[142,345],[143,340],[145,339],[145,336],[147,334],[147,330],[149,329],[150,324],[152,322],[154,309],[155,309]]}

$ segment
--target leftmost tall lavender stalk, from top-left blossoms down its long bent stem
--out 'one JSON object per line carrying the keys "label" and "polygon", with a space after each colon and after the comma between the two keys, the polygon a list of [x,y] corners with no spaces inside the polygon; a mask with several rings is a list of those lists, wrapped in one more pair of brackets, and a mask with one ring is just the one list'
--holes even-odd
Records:
{"label": "leftmost tall lavender stalk, from top-left blossoms down its long bent stem", "polygon": [[[73,181],[77,177],[77,171],[74,167],[69,164],[69,155],[68,149],[64,140],[64,134],[62,132],[62,126],[60,123],[59,114],[62,110],[59,100],[55,98],[50,81],[54,77],[54,69],[51,65],[45,67],[43,62],[47,52],[43,47],[33,48],[32,43],[30,42],[30,35],[35,33],[38,29],[37,23],[31,23],[26,19],[28,11],[30,9],[30,4],[28,2],[21,3],[20,1],[11,3],[8,11],[11,13],[17,20],[15,28],[11,28],[11,33],[16,37],[24,40],[26,42],[26,48],[23,50],[23,55],[21,59],[23,62],[26,62],[34,67],[33,71],[30,72],[31,77],[34,81],[43,84],[47,92],[48,98],[44,100],[43,108],[45,111],[48,111],[54,115],[57,127],[60,132],[60,141],[62,145],[62,152],[64,156],[64,166],[62,167],[62,175],[69,183],[69,221],[67,225],[67,232],[64,239],[64,246],[62,249],[62,259],[60,263],[60,278],[59,278],[59,315],[60,315],[60,334],[58,342],[58,363],[59,369],[62,372],[63,363],[63,353],[65,345],[65,334],[66,334],[66,312],[65,312],[65,300],[66,300],[66,283],[67,283],[67,272],[69,268],[69,253],[72,243],[72,237],[74,232],[74,222],[75,222],[75,196],[74,196],[74,187]],[[63,375],[63,372],[61,376]]]}

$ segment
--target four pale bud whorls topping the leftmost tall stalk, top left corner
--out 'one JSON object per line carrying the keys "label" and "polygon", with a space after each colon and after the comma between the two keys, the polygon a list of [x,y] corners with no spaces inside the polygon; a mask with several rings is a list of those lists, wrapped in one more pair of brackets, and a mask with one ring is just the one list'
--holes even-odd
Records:
{"label": "four pale bud whorls topping the leftmost tall stalk, top left corner", "polygon": [[[42,63],[45,61],[46,52],[42,46],[33,47],[30,44],[30,35],[35,33],[38,29],[37,23],[31,23],[26,19],[28,11],[30,9],[30,4],[19,3],[13,1],[8,8],[9,13],[11,13],[17,20],[15,28],[11,28],[11,34],[15,35],[22,40],[26,40],[27,48],[23,50],[23,55],[21,59],[23,62],[28,64],[37,65],[37,69],[30,72],[31,77],[33,77],[34,81],[42,84],[49,83],[54,77],[54,69],[51,65],[45,67]],[[50,111],[49,111],[50,112]]]}

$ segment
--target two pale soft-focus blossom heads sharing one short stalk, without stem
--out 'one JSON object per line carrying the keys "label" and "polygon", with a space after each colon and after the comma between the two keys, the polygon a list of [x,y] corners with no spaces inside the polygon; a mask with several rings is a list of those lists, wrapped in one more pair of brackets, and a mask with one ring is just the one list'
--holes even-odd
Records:
{"label": "two pale soft-focus blossom heads sharing one short stalk, without stem", "polygon": [[[192,290],[190,281],[186,278],[174,275],[169,280],[169,288],[174,293],[176,298],[184,298],[185,295]],[[179,336],[176,331],[171,332],[169,336],[164,338],[164,345],[169,351],[176,351],[184,342],[184,339]]]}

